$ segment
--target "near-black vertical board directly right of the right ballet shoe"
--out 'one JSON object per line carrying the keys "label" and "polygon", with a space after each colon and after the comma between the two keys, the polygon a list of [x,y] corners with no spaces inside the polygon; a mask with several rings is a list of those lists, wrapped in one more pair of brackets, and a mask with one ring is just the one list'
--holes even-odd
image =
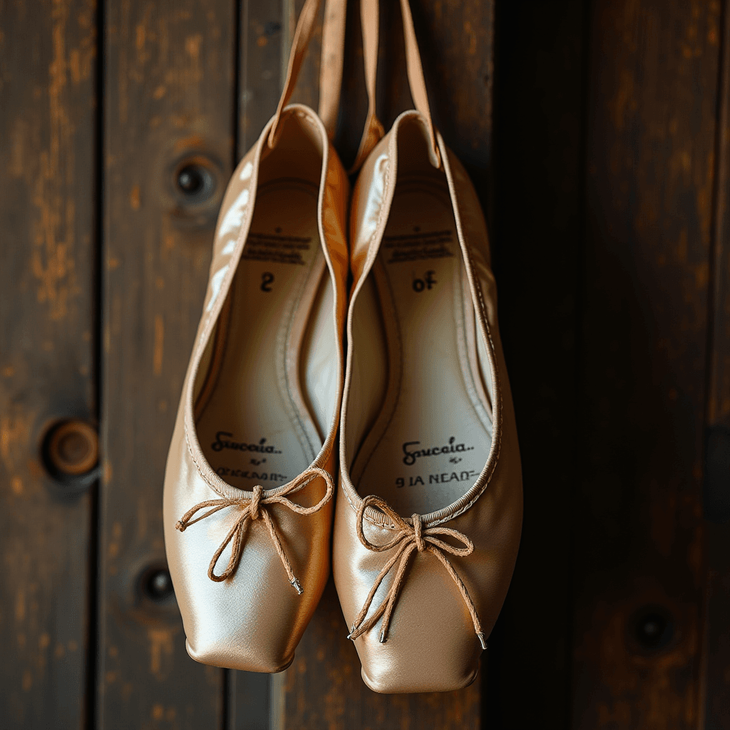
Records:
{"label": "near-black vertical board directly right of the right ballet shoe", "polygon": [[525,507],[489,641],[484,712],[494,729],[569,727],[583,27],[581,0],[496,8],[491,245]]}

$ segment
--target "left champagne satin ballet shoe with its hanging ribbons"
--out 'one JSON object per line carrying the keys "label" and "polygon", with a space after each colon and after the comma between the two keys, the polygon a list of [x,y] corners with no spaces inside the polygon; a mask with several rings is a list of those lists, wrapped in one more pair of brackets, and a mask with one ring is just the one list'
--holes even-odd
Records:
{"label": "left champagne satin ballet shoe with its hanging ribbons", "polygon": [[[318,5],[304,5],[277,113],[223,200],[164,485],[188,653],[255,672],[291,664],[329,572],[349,188],[331,69],[329,135],[287,103]],[[341,45],[344,15],[330,21]]]}

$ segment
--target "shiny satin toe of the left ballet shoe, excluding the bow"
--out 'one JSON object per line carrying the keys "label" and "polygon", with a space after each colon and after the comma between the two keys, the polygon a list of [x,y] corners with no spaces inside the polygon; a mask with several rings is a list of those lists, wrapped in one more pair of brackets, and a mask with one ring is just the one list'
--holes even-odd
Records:
{"label": "shiny satin toe of the left ballet shoe, excluding the bow", "polygon": [[[293,661],[326,583],[331,512],[327,506],[305,516],[279,504],[266,506],[303,586],[301,595],[289,582],[262,519],[247,520],[235,571],[226,580],[214,581],[208,575],[211,559],[240,518],[241,507],[219,510],[184,532],[176,529],[177,520],[191,507],[218,498],[189,466],[168,468],[164,499],[167,560],[188,653],[204,664],[280,672]],[[233,542],[218,558],[215,575],[226,569]]]}

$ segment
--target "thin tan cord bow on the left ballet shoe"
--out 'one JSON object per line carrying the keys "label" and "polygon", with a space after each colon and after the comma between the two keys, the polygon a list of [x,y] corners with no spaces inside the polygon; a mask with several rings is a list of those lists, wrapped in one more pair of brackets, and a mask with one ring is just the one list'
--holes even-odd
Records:
{"label": "thin tan cord bow on the left ballet shoe", "polygon": [[[327,491],[323,498],[320,499],[320,502],[315,504],[314,507],[301,507],[300,504],[291,502],[291,499],[286,498],[285,495],[309,484],[312,479],[315,479],[315,477],[318,476],[325,480]],[[282,491],[277,494],[264,496],[264,488],[257,484],[253,488],[253,496],[251,497],[226,497],[224,499],[208,499],[206,502],[200,502],[199,504],[196,504],[195,507],[191,507],[190,510],[185,512],[183,517],[177,521],[175,529],[180,530],[180,532],[184,532],[185,529],[194,525],[196,522],[200,522],[200,520],[204,520],[205,518],[210,517],[210,515],[215,515],[215,512],[225,510],[226,507],[243,507],[241,516],[236,520],[236,523],[233,527],[231,527],[230,531],[228,531],[223,542],[220,543],[218,550],[216,550],[213,554],[210,566],[208,566],[208,577],[210,580],[215,580],[216,583],[220,583],[220,581],[226,580],[226,578],[231,577],[231,575],[236,572],[238,562],[241,558],[241,545],[243,543],[243,536],[246,531],[247,523],[249,520],[258,520],[261,518],[264,520],[264,523],[266,523],[266,527],[269,528],[269,534],[271,535],[272,542],[274,543],[274,548],[276,548],[282,565],[286,571],[286,575],[289,577],[289,583],[294,586],[296,592],[301,596],[301,593],[304,593],[304,590],[301,588],[301,583],[299,583],[299,580],[296,579],[296,576],[291,569],[291,563],[284,552],[281,540],[279,539],[279,535],[274,527],[274,521],[272,520],[272,516],[266,508],[266,505],[283,504],[284,507],[288,507],[292,512],[296,512],[298,515],[312,515],[314,512],[321,510],[322,507],[329,502],[333,492],[334,484],[332,483],[332,477],[324,469],[318,469],[316,466],[313,466],[311,469],[307,469],[306,472],[301,472],[299,477],[291,480],[291,482],[285,485]],[[210,507],[210,510],[205,512],[204,515],[200,515],[200,517],[193,519],[196,512],[204,510],[207,507]],[[231,542],[231,540],[233,541],[233,547],[231,548],[231,557],[228,558],[228,565],[226,566],[226,569],[220,573],[220,575],[216,575],[215,566],[218,563],[218,558],[220,558],[223,550],[226,550],[228,543]]]}

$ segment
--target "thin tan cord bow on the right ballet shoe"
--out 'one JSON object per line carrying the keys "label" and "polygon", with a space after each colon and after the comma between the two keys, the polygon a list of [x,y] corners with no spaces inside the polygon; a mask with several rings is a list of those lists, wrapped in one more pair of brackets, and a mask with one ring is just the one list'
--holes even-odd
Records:
{"label": "thin tan cord bow on the right ballet shoe", "polygon": [[[385,545],[373,545],[372,542],[365,537],[363,521],[365,517],[365,510],[369,506],[383,512],[383,514],[395,524],[396,529],[398,529],[395,537],[393,537],[390,542],[386,542]],[[415,550],[418,550],[419,553],[431,553],[431,555],[438,558],[447,570],[448,574],[453,578],[454,583],[456,583],[459,591],[461,591],[461,597],[464,599],[464,603],[469,609],[469,613],[472,615],[474,630],[477,637],[479,637],[480,644],[483,649],[486,649],[487,642],[482,631],[482,625],[479,621],[479,616],[477,615],[474,602],[472,602],[472,598],[469,596],[469,591],[466,590],[464,581],[461,580],[450,560],[444,555],[444,553],[450,553],[451,555],[465,558],[474,552],[474,543],[466,537],[465,534],[458,530],[453,530],[448,527],[423,527],[420,515],[412,515],[411,521],[412,525],[401,518],[401,516],[395,512],[387,502],[380,499],[380,497],[370,495],[361,502],[357,516],[357,530],[360,542],[368,550],[372,550],[374,553],[385,553],[387,550],[391,550],[392,548],[397,549],[396,552],[393,553],[393,556],[383,566],[380,573],[378,573],[377,578],[375,578],[375,582],[370,589],[370,593],[368,593],[365,604],[353,622],[352,630],[347,638],[353,639],[354,641],[357,637],[361,636],[361,634],[372,629],[378,619],[383,616],[383,626],[380,629],[380,643],[385,644],[385,641],[388,638],[388,626],[390,626],[391,623],[393,608],[396,605],[398,593],[404,583],[406,568],[408,566],[408,558],[410,558]],[[447,542],[439,539],[437,535],[453,537],[458,540],[458,542],[461,542],[464,547],[455,548],[453,545],[449,545]],[[383,579],[386,575],[388,575],[388,572],[390,572],[393,565],[395,565],[398,561],[400,562],[398,564],[398,569],[396,570],[396,577],[393,579],[391,587],[388,588],[388,592],[385,594],[383,602],[380,604],[380,607],[374,611],[370,618],[366,620],[367,612],[370,610],[370,606],[372,605],[375,593],[377,593],[377,589],[380,588],[380,584],[383,583]]]}

